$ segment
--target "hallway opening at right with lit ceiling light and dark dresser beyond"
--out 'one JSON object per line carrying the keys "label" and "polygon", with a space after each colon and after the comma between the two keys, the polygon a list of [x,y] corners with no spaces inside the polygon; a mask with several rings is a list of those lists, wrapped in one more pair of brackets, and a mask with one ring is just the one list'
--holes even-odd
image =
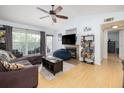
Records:
{"label": "hallway opening at right with lit ceiling light and dark dresser beyond", "polygon": [[[101,43],[102,58],[108,59],[109,53],[112,53],[117,55],[119,59],[124,59],[124,20],[102,24],[101,28],[103,30],[103,43]],[[112,39],[110,37],[112,37]]]}

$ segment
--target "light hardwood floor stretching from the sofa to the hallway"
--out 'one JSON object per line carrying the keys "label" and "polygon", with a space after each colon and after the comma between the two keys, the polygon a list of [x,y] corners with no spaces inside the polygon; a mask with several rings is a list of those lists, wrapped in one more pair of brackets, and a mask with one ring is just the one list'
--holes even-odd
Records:
{"label": "light hardwood floor stretching from the sofa to the hallway", "polygon": [[123,86],[122,64],[118,57],[109,55],[102,65],[90,65],[71,60],[75,67],[48,81],[39,74],[38,88],[121,88]]}

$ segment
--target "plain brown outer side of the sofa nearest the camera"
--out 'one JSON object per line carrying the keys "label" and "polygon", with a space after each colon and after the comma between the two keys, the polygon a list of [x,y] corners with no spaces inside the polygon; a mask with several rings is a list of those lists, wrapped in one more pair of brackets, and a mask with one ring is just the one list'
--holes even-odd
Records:
{"label": "plain brown outer side of the sofa nearest the camera", "polygon": [[0,72],[0,88],[32,88],[37,87],[37,84],[37,66],[17,71]]}

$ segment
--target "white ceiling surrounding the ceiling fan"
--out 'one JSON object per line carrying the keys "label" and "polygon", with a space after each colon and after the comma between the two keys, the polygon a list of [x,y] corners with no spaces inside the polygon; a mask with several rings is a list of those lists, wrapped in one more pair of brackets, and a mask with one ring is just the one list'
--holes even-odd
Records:
{"label": "white ceiling surrounding the ceiling fan", "polygon": [[[57,19],[57,23],[53,24],[50,17],[45,19],[39,19],[40,17],[47,14],[37,10],[36,7],[36,5],[0,5],[0,19],[28,25],[45,26],[57,29],[65,22],[78,16],[119,12],[124,10],[124,6],[121,5],[62,5],[63,10],[59,14],[68,16],[69,19]],[[39,5],[39,7],[45,10],[51,9],[50,5]]]}

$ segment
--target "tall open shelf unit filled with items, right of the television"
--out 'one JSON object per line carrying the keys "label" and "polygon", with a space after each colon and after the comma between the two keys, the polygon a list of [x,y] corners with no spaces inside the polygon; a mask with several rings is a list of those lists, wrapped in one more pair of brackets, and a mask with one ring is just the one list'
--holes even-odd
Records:
{"label": "tall open shelf unit filled with items, right of the television", "polygon": [[94,63],[94,35],[82,36],[81,39],[81,57],[83,62]]}

